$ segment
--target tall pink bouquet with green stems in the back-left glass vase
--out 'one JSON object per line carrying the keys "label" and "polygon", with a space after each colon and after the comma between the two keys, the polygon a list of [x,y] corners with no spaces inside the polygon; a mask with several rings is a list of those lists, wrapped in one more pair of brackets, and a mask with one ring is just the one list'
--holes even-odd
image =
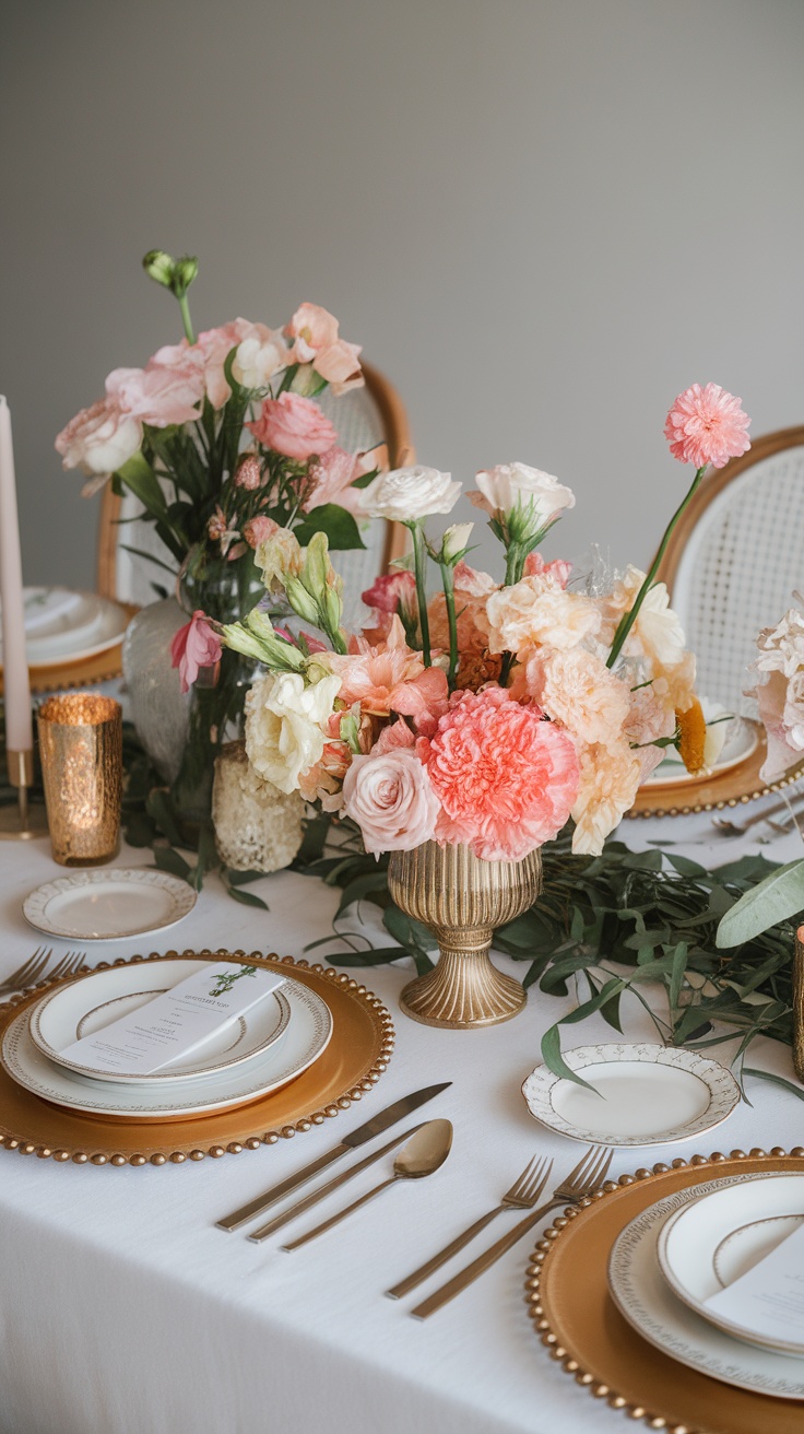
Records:
{"label": "tall pink bouquet with green stems in the back-left glass vase", "polygon": [[176,297],[183,338],[145,369],[115,369],[105,396],[67,423],[56,447],[64,467],[90,475],[85,493],[110,479],[139,499],[162,555],[138,556],[171,574],[171,585],[178,578],[189,618],[173,648],[182,690],[204,674],[179,806],[204,815],[212,760],[242,718],[249,677],[206,618],[234,621],[257,602],[254,555],[279,529],[302,543],[322,532],[332,549],[361,548],[354,483],[378,465],[338,446],[317,402],[327,387],[343,394],[364,383],[360,347],[340,337],[332,314],[302,304],[284,328],[236,318],[196,334],[188,290],[198,261],[152,251],[143,265]]}

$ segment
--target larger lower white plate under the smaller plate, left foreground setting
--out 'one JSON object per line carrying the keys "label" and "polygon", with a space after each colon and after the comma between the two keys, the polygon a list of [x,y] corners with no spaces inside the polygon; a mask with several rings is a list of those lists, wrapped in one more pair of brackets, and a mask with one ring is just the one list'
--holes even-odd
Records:
{"label": "larger lower white plate under the smaller plate, left foreground setting", "polygon": [[30,1010],[21,1011],[7,1027],[0,1061],[19,1086],[67,1110],[120,1120],[205,1116],[244,1106],[287,1086],[325,1050],[332,1034],[328,1005],[301,981],[288,981],[284,994],[291,1018],[282,1038],[264,1055],[212,1076],[165,1080],[155,1088],[77,1076],[36,1048],[30,1037]]}

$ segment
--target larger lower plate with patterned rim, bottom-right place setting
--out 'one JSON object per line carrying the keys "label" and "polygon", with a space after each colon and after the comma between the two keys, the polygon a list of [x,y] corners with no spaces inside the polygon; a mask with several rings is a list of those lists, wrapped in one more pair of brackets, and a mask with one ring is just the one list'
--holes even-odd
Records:
{"label": "larger lower plate with patterned rim, bottom-right place setting", "polygon": [[659,1269],[656,1245],[665,1220],[691,1200],[744,1179],[724,1176],[678,1190],[635,1216],[612,1246],[609,1291],[636,1334],[671,1359],[738,1390],[804,1400],[804,1359],[742,1344],[715,1329],[674,1295]]}

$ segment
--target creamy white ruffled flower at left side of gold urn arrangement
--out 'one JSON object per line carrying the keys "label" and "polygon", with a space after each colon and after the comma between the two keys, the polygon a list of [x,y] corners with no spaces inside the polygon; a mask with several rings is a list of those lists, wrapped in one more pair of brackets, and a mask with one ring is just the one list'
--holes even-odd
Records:
{"label": "creamy white ruffled flower at left side of gold urn arrangement", "polygon": [[305,685],[298,673],[268,673],[245,700],[245,750],[252,767],[279,792],[298,792],[300,776],[321,760],[324,724],[341,678]]}

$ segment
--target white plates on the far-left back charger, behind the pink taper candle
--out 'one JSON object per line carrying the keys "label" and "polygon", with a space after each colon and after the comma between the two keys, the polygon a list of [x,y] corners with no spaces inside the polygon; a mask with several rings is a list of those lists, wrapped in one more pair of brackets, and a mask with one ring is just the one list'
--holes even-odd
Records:
{"label": "white plates on the far-left back charger, behind the pink taper candle", "polygon": [[115,647],[126,631],[125,609],[97,592],[24,588],[23,602],[26,655],[32,667],[95,657]]}

